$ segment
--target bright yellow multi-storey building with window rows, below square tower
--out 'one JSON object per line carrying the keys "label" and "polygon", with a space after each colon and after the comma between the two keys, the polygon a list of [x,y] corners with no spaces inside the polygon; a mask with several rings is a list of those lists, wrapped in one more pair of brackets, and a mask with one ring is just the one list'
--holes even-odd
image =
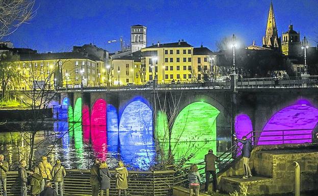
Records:
{"label": "bright yellow multi-storey building with window rows, below square tower", "polygon": [[203,46],[194,48],[183,40],[174,43],[157,43],[141,49],[141,81],[146,82],[152,78],[156,78],[158,83],[203,80],[202,70],[207,74],[215,59],[213,52],[208,48]]}

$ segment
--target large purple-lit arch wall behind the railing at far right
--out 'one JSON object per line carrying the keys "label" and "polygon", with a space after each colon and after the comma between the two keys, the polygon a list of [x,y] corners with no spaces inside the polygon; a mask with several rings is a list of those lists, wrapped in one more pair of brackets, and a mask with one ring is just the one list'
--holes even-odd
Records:
{"label": "large purple-lit arch wall behind the railing at far right", "polygon": [[[264,126],[258,145],[311,143],[312,130],[317,122],[317,108],[301,103],[285,107]],[[274,131],[266,132],[267,130]]]}

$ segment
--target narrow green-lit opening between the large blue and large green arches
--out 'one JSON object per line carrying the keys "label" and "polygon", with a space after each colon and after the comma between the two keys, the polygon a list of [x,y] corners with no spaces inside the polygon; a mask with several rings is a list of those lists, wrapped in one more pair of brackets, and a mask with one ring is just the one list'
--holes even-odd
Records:
{"label": "narrow green-lit opening between the large blue and large green arches", "polygon": [[157,112],[154,127],[155,138],[160,142],[167,142],[169,139],[169,126],[167,114],[160,110]]}

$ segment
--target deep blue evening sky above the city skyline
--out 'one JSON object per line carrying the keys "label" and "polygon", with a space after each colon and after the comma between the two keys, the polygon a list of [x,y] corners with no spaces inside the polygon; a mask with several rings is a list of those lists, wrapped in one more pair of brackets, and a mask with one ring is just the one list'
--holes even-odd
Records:
{"label": "deep blue evening sky above the city skyline", "polygon": [[[15,47],[39,52],[70,51],[73,45],[93,43],[109,51],[120,49],[108,40],[123,36],[130,41],[130,26],[147,26],[147,45],[184,39],[193,46],[216,50],[216,41],[233,33],[245,45],[261,45],[266,29],[270,0],[220,1],[108,1],[37,0],[37,15],[3,40]],[[273,0],[278,34],[294,30],[312,40],[318,38],[318,1]]]}

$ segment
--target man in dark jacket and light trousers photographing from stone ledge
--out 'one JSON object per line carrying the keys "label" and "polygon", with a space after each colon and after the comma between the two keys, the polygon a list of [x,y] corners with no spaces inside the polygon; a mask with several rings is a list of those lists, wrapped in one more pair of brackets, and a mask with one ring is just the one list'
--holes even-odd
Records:
{"label": "man in dark jacket and light trousers photographing from stone ledge", "polygon": [[234,137],[234,139],[237,142],[240,142],[243,144],[243,149],[242,149],[242,156],[243,156],[243,166],[244,166],[244,179],[247,179],[249,177],[252,177],[251,169],[249,166],[249,159],[251,157],[251,151],[252,151],[252,141],[251,139],[247,139],[246,136],[243,136],[242,139],[237,139]]}

